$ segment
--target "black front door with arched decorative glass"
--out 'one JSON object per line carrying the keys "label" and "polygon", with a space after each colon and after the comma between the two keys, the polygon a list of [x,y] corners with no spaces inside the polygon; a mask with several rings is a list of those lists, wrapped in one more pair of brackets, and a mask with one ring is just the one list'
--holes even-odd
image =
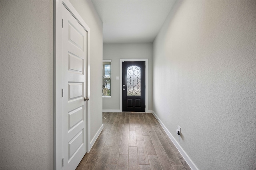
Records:
{"label": "black front door with arched decorative glass", "polygon": [[123,111],[145,111],[145,61],[123,62]]}

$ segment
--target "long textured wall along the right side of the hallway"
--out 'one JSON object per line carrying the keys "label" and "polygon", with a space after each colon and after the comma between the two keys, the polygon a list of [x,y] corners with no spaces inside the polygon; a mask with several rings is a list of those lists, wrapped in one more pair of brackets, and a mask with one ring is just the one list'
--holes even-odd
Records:
{"label": "long textured wall along the right side of the hallway", "polygon": [[177,1],[154,41],[153,104],[199,169],[255,170],[256,1]]}

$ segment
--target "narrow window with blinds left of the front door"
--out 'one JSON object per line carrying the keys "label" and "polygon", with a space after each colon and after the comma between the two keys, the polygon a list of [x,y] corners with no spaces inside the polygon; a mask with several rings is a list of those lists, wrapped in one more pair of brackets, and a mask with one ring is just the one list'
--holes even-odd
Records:
{"label": "narrow window with blinds left of the front door", "polygon": [[111,60],[103,60],[102,96],[111,96]]}

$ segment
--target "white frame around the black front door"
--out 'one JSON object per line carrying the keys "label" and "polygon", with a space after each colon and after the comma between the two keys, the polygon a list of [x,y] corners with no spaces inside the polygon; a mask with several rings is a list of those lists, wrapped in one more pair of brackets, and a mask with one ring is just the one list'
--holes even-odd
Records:
{"label": "white frame around the black front door", "polygon": [[119,111],[122,112],[123,110],[123,107],[122,107],[122,63],[123,61],[145,61],[145,84],[146,84],[146,87],[145,87],[145,105],[146,105],[146,108],[145,108],[145,112],[149,112],[148,111],[148,59],[120,59],[120,74],[119,74],[119,101],[120,101],[120,105],[119,105]]}

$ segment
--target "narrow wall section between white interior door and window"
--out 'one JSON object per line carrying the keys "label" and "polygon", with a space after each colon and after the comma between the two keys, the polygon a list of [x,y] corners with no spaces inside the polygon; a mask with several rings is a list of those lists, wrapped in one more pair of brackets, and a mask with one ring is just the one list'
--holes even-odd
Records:
{"label": "narrow wall section between white interior door and window", "polygon": [[91,139],[102,125],[102,21],[89,0],[71,0],[86,24],[90,27],[90,102],[91,102]]}

